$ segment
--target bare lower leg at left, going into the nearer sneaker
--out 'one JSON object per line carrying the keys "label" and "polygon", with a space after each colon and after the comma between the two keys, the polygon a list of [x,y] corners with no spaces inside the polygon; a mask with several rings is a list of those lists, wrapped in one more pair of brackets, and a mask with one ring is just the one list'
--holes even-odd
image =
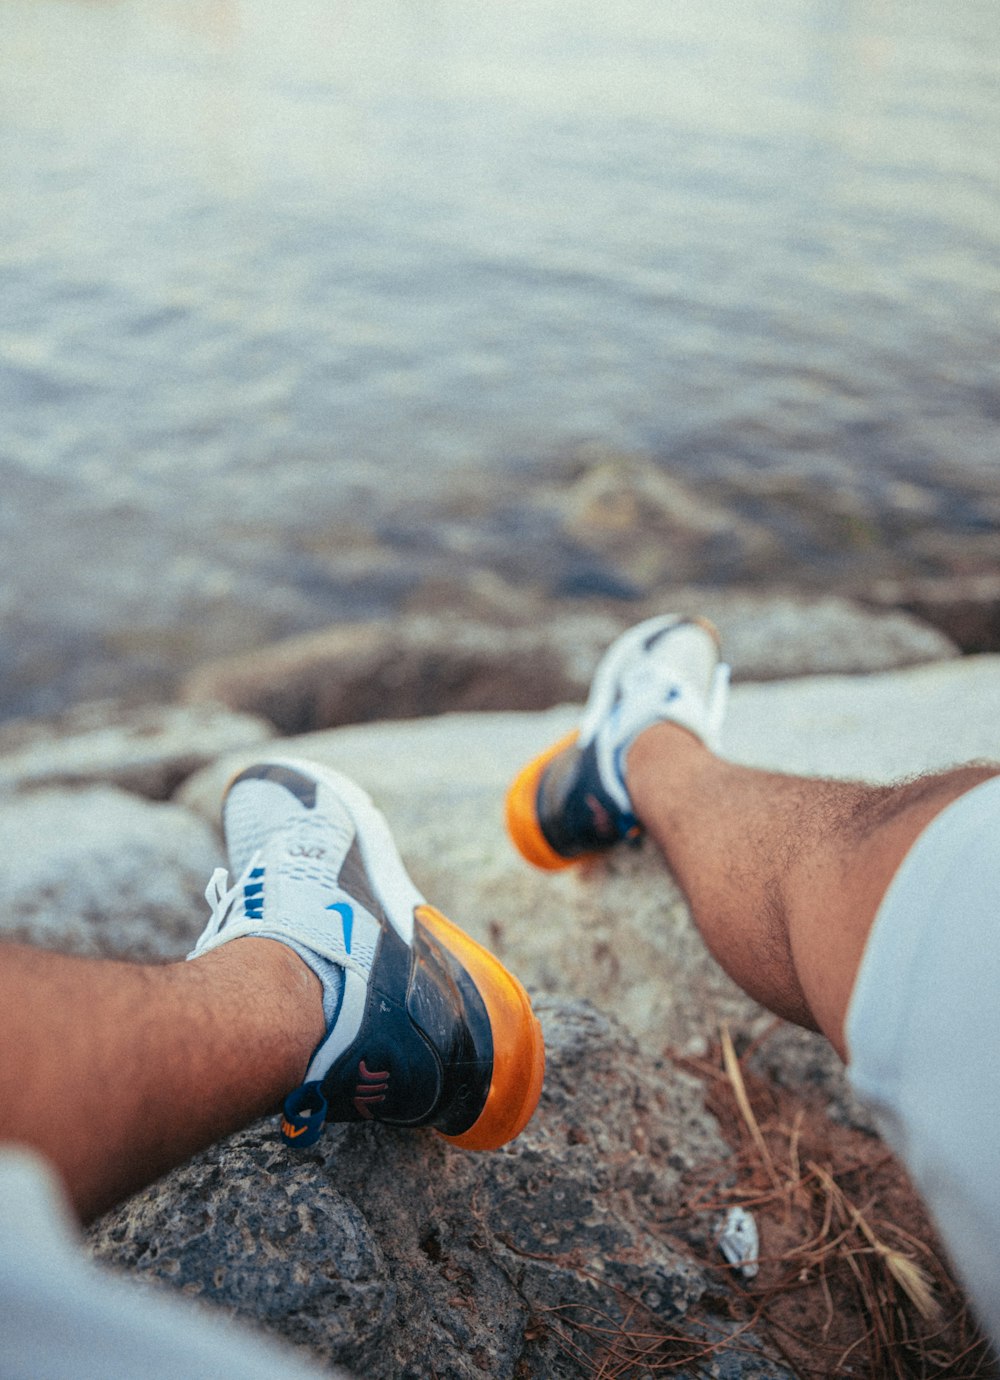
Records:
{"label": "bare lower leg at left, going into the nearer sneaker", "polygon": [[0,1012],[0,1140],[84,1220],[273,1110],[324,1031],[319,980],[258,938],[166,966],[1,945]]}

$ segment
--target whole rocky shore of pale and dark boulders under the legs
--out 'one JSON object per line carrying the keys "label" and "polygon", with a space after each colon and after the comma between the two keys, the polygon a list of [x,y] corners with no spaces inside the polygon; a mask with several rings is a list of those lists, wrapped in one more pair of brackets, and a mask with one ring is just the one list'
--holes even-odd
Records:
{"label": "whole rocky shore of pale and dark boulders under the legs", "polygon": [[[997,755],[1000,657],[837,600],[710,611],[743,682],[734,759],[891,780]],[[437,651],[430,631],[332,629],[207,667],[183,704],[0,730],[7,937],[182,955],[221,861],[225,781],[277,748],[371,791],[418,886],[521,976],[546,1034],[539,1111],[503,1152],[352,1126],[294,1156],[263,1122],[109,1213],[91,1250],[385,1380],[582,1377],[626,1352],[632,1369],[600,1373],[652,1373],[637,1336],[684,1374],[790,1374],[716,1246],[742,1163],[706,1072],[720,1027],[830,1145],[870,1145],[872,1129],[823,1042],[775,1028],[724,977],[650,847],[550,878],[508,843],[512,767],[571,726],[560,701],[579,701],[617,629],[452,631],[446,657],[440,629]],[[375,716],[390,722],[343,726]],[[761,1254],[779,1216],[760,1213]]]}

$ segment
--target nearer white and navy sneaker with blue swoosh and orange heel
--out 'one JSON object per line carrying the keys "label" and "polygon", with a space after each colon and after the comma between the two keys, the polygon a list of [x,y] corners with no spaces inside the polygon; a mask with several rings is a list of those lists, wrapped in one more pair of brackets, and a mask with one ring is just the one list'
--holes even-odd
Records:
{"label": "nearer white and navy sneaker with blue swoosh and orange heel", "polygon": [[310,1145],[323,1125],[432,1126],[495,1150],[528,1123],[542,1089],[541,1027],[503,965],[428,905],[360,787],[326,767],[273,760],[226,792],[233,874],[208,883],[196,958],[243,936],[294,948],[324,989],[327,1031],[284,1103],[281,1132]]}

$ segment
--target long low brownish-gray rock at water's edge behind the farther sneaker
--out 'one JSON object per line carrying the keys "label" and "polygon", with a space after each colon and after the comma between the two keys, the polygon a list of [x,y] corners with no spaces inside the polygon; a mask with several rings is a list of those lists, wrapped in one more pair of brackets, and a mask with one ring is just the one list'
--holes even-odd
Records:
{"label": "long low brownish-gray rock at water's edge behind the farther sneaker", "polygon": [[[843,599],[687,591],[666,604],[604,604],[517,622],[447,611],[403,624],[345,624],[252,656],[210,662],[182,684],[190,704],[263,715],[281,733],[443,712],[543,709],[582,700],[607,644],[663,607],[702,613],[723,633],[737,679],[870,672],[956,654],[939,632],[898,611]],[[513,614],[512,614],[513,615]]]}

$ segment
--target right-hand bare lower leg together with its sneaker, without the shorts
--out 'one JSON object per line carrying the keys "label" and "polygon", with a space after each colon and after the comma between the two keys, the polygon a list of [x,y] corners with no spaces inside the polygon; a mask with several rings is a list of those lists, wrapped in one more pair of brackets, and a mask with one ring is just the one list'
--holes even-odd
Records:
{"label": "right-hand bare lower leg together with its sneaker, without the shorts", "polygon": [[931,820],[1000,766],[895,787],[734,766],[713,751],[727,680],[703,620],[663,614],[630,628],[601,660],[579,730],[514,778],[510,836],[530,862],[556,869],[646,828],[727,972],[843,1056],[848,998],[892,875]]}

